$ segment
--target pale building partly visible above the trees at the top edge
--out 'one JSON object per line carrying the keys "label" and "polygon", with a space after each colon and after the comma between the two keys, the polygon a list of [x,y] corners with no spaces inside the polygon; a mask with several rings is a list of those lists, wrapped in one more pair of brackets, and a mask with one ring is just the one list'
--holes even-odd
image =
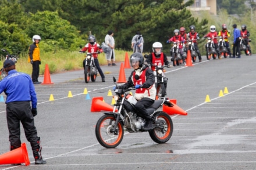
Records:
{"label": "pale building partly visible above the trees at the top edge", "polygon": [[[186,2],[187,0],[184,0]],[[194,4],[189,7],[190,10],[200,11],[208,10],[210,13],[217,15],[217,0],[194,0]]]}

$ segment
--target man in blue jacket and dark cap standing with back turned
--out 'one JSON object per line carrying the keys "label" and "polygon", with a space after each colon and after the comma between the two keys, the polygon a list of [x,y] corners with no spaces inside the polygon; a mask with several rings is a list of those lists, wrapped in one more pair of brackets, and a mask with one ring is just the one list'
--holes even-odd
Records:
{"label": "man in blue jacket and dark cap standing with back turned", "polygon": [[[37,96],[33,82],[29,75],[17,72],[12,60],[5,60],[3,68],[7,76],[0,81],[0,93],[6,97],[6,119],[9,130],[10,150],[21,146],[20,122],[27,140],[31,144],[35,164],[45,164],[42,159],[40,137],[34,125],[34,117],[37,115]],[[30,101],[31,105],[30,106]]]}

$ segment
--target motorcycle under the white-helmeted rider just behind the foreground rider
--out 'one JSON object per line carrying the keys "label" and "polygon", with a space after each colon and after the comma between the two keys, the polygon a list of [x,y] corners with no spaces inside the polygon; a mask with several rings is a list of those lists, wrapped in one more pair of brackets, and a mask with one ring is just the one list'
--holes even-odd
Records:
{"label": "motorcycle under the white-helmeted rider just behind the foreground rider", "polygon": [[[146,59],[147,56],[148,55],[144,55]],[[147,60],[145,61],[145,64],[150,65],[151,67],[155,66],[155,69],[153,70],[153,73],[155,75],[155,88],[157,89],[157,96],[155,96],[155,100],[158,100],[159,97],[165,96],[165,86],[163,85],[163,73],[165,72],[165,70],[163,68],[168,66],[148,63]]]}

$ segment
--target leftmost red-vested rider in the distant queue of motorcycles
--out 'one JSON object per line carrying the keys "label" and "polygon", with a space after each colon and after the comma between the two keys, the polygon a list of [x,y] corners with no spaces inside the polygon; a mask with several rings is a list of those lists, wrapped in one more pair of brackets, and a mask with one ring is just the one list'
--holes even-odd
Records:
{"label": "leftmost red-vested rider in the distant queue of motorcycles", "polygon": [[[174,36],[170,39],[168,39],[166,42],[170,43],[170,42],[177,42],[179,45],[179,51],[180,51],[180,56],[182,56],[183,59],[183,63],[186,66],[186,58],[187,56],[184,55],[183,49],[182,49],[182,43],[184,43],[184,38],[182,37],[182,35],[180,35],[180,31],[175,29],[173,31]],[[172,56],[172,50],[170,50],[170,56]],[[170,59],[171,61],[173,61],[174,59]]]}

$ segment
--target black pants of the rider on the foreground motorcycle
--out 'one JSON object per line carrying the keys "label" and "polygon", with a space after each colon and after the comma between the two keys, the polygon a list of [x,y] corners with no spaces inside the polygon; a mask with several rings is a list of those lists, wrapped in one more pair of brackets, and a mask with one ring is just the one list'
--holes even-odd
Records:
{"label": "black pants of the rider on the foreground motorcycle", "polygon": [[135,105],[135,108],[137,109],[138,114],[147,121],[151,120],[151,117],[150,117],[150,114],[148,114],[146,108],[151,106],[153,103],[154,103],[154,100],[148,97],[144,97],[143,99],[139,100]]}

